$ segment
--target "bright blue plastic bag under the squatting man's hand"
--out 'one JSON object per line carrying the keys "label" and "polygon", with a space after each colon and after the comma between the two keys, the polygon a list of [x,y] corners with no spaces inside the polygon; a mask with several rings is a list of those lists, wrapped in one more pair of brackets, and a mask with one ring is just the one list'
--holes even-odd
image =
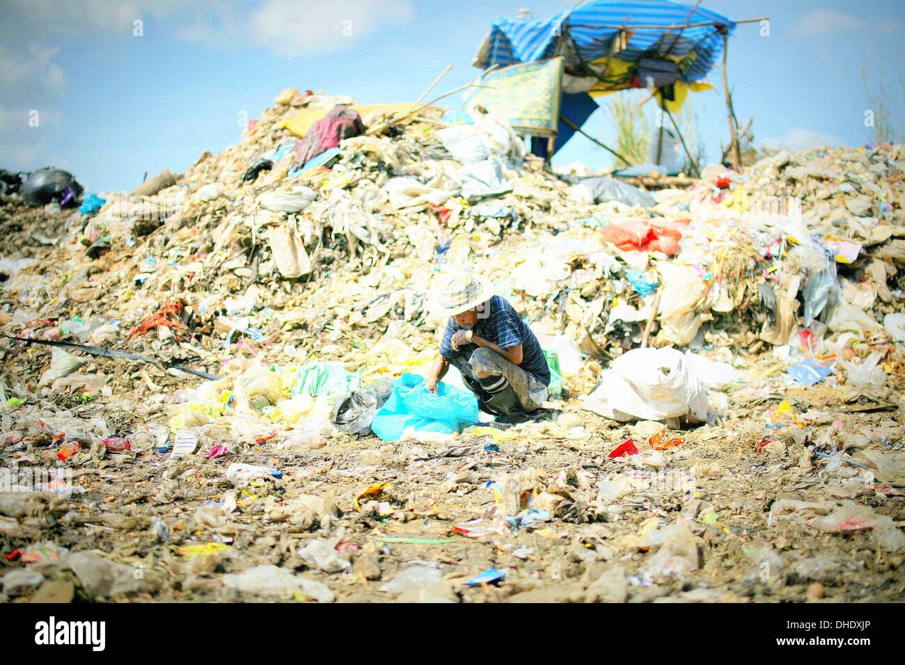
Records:
{"label": "bright blue plastic bag under the squatting man's hand", "polygon": [[393,392],[374,416],[371,430],[381,441],[398,441],[406,430],[457,434],[478,420],[474,394],[440,382],[437,394],[424,378],[406,372],[393,382]]}

